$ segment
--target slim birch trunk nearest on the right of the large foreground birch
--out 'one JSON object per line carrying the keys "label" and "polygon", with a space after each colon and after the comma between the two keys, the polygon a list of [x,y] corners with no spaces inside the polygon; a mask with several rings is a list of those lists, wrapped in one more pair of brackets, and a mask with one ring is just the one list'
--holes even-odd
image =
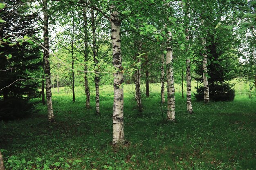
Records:
{"label": "slim birch trunk nearest on the right of the large foreground birch", "polygon": [[[142,43],[139,42],[138,44],[138,51],[141,52],[142,48]],[[138,54],[139,55],[139,54]],[[141,62],[140,57],[137,58],[137,56],[135,57],[135,60],[137,60],[137,63]],[[141,67],[137,66],[137,71],[135,71],[135,75],[134,75],[134,82],[135,82],[135,99],[136,99],[136,103],[137,103],[137,108],[139,110],[139,112],[142,112],[142,103],[141,103],[141,89],[140,89],[140,85],[141,85]]]}

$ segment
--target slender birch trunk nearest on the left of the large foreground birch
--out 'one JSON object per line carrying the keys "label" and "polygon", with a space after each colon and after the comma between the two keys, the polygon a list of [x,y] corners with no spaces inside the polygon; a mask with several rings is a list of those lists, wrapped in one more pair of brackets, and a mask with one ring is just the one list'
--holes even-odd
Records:
{"label": "slender birch trunk nearest on the left of the large foreground birch", "polygon": [[97,59],[97,45],[96,45],[96,28],[94,23],[94,10],[91,9],[91,22],[92,22],[92,52],[93,52],[93,60],[94,60],[94,71],[95,77],[94,77],[94,83],[95,83],[95,101],[96,101],[96,114],[99,115],[99,71],[97,64],[99,63],[99,60]]}

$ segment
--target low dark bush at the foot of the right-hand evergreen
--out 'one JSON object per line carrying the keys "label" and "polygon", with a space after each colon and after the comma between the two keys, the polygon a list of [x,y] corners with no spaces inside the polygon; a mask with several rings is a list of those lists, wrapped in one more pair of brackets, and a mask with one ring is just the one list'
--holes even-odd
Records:
{"label": "low dark bush at the foot of the right-hand evergreen", "polygon": [[[209,95],[211,101],[233,101],[235,98],[235,90],[229,83],[209,85]],[[204,100],[204,87],[196,88],[197,93],[194,93],[198,101]]]}

